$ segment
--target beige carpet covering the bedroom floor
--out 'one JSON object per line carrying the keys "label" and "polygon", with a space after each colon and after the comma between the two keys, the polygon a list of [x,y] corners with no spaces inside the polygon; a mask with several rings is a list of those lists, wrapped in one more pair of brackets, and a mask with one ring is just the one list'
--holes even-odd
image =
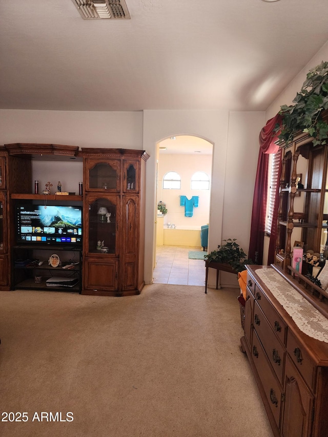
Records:
{"label": "beige carpet covering the bedroom floor", "polygon": [[124,298],[1,292],[1,411],[28,421],[1,422],[0,435],[272,437],[239,350],[237,296],[161,284]]}

